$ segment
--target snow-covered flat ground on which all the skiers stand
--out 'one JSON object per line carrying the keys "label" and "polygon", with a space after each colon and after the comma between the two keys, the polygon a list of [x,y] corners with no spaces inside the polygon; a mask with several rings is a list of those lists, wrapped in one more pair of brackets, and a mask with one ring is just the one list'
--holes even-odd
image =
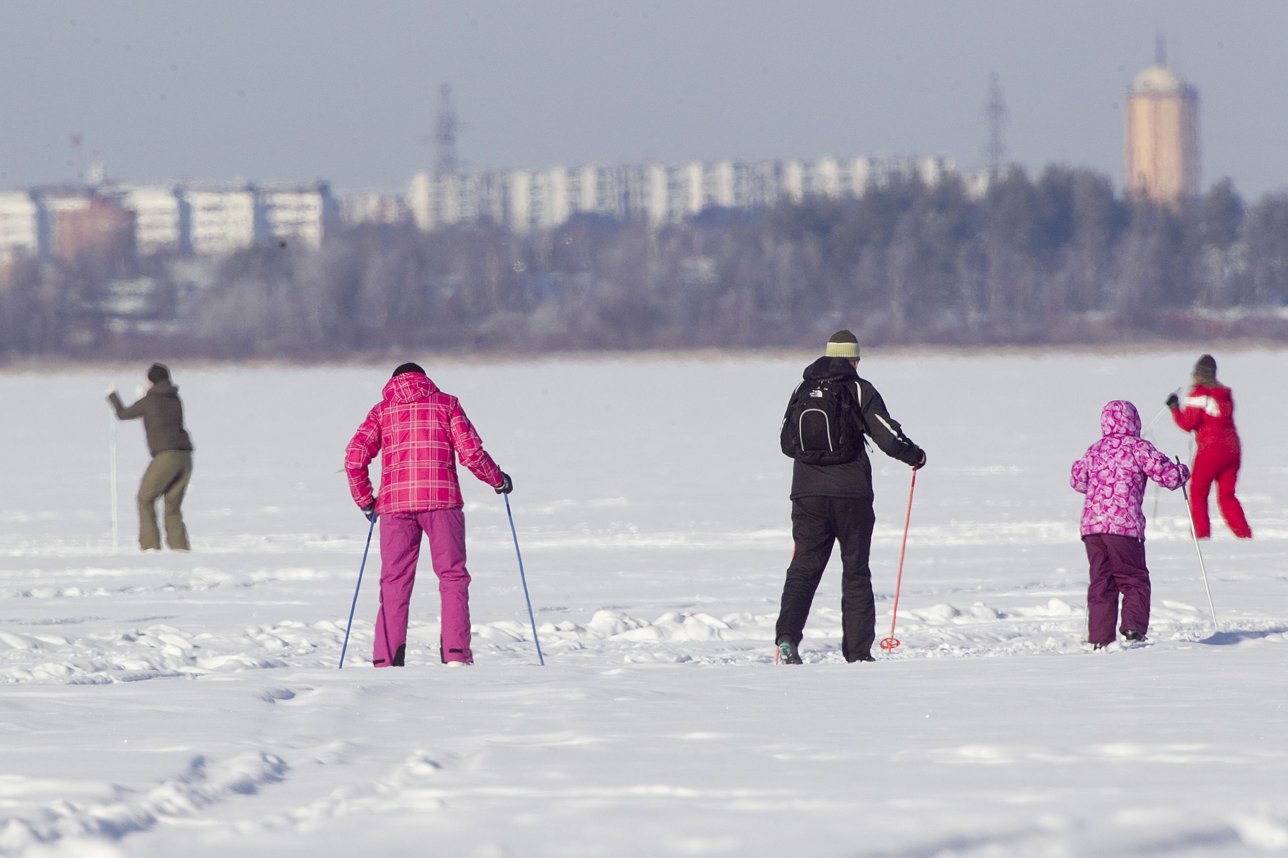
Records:
{"label": "snow-covered flat ground on which all the skiers stand", "polygon": [[[805,356],[426,361],[514,476],[547,661],[505,507],[466,475],[465,670],[438,664],[428,557],[408,666],[365,661],[368,566],[336,670],[366,535],[341,453],[386,368],[176,365],[194,551],[148,556],[138,423],[116,552],[108,524],[102,391],[137,379],[0,376],[0,855],[1288,850],[1288,354],[1218,354],[1257,536],[1204,545],[1221,633],[1180,494],[1154,516],[1150,490],[1149,642],[1082,643],[1069,464],[1106,400],[1148,422],[1194,356],[866,359],[930,459],[903,646],[844,662],[832,567],[797,669],[772,630]],[[909,471],[875,463],[884,637]]]}

